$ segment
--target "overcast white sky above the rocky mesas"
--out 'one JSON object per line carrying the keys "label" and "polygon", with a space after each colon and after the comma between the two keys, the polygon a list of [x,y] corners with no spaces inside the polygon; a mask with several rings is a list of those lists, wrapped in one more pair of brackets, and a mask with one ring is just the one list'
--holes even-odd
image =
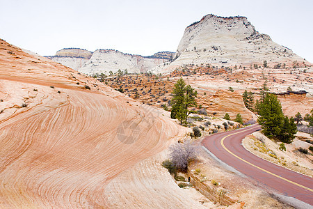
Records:
{"label": "overcast white sky above the rocky mesas", "polygon": [[41,55],[65,47],[144,56],[175,52],[204,15],[246,16],[257,31],[313,63],[312,0],[0,0],[0,38]]}

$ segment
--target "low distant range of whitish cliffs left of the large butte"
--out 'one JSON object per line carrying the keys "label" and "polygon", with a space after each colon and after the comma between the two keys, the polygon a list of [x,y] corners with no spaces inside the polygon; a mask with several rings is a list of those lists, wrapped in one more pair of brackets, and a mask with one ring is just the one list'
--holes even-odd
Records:
{"label": "low distant range of whitish cliffs left of the large butte", "polygon": [[97,49],[95,52],[89,52],[85,49],[61,49],[55,56],[47,58],[61,63],[69,68],[78,70],[88,75],[109,72],[118,72],[118,70],[127,70],[130,73],[147,72],[157,65],[171,59],[172,52],[158,52],[152,56],[141,56],[125,54],[113,49]]}

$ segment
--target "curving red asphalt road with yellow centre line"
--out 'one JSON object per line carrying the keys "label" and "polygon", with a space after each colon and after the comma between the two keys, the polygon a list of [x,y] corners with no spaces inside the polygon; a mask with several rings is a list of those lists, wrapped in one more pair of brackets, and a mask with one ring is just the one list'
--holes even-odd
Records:
{"label": "curving red asphalt road with yellow centre line", "polygon": [[[246,135],[251,134],[260,129],[259,125],[252,125],[250,127],[246,127],[240,130],[234,130],[230,132],[223,132],[219,134],[214,134],[209,137],[205,137],[202,140],[202,146],[207,148],[211,153],[213,153],[219,160],[225,162],[230,165],[237,171],[245,174],[246,176],[253,178],[258,183],[265,185],[271,189],[275,189],[276,192],[283,194],[284,196],[292,196],[300,201],[313,205],[313,178],[308,176],[304,176],[300,173],[296,173],[294,171],[290,171],[288,169],[284,169],[283,167],[279,167],[276,164],[263,160],[256,155],[253,155],[248,150],[243,148],[241,145],[242,139],[246,137]],[[242,132],[244,131],[244,132]],[[237,133],[239,132],[239,133]],[[226,137],[229,134],[234,134],[232,136]],[[309,189],[305,189],[298,185],[294,185],[293,183],[289,183],[282,178],[275,177],[270,173],[266,173],[266,171],[262,171],[252,165],[243,162],[238,159],[231,153],[227,152],[225,148],[223,148],[221,144],[221,140],[223,137],[226,137],[223,141],[225,147],[230,150],[230,152],[234,153],[238,157],[241,157],[243,160],[254,164],[257,167],[265,169],[271,173],[275,173],[276,175],[290,180],[299,185],[303,185]],[[310,191],[311,189],[311,191]]]}

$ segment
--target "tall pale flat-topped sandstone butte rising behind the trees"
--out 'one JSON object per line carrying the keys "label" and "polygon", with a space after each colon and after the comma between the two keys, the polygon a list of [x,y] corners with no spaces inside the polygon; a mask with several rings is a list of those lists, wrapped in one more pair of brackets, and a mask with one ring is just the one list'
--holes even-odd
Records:
{"label": "tall pale flat-topped sandstone butte rising behind the trees", "polygon": [[309,64],[291,49],[278,45],[270,36],[260,34],[246,17],[218,17],[206,15],[188,26],[179,42],[174,60],[154,72],[167,72],[184,64],[209,63],[218,66],[271,64],[294,61]]}

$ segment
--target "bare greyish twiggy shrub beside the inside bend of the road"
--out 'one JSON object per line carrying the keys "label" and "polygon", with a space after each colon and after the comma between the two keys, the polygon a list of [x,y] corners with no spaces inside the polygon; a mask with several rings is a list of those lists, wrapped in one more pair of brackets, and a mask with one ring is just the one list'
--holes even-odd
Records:
{"label": "bare greyish twiggy shrub beside the inside bend of the road", "polygon": [[189,162],[196,158],[196,147],[188,140],[184,144],[176,143],[170,146],[170,161],[181,171],[187,171]]}

